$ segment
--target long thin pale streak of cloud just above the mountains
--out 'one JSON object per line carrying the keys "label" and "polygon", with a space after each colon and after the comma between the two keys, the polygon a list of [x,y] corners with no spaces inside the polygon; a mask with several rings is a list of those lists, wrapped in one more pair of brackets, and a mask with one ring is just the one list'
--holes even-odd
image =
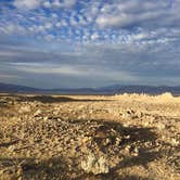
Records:
{"label": "long thin pale streak of cloud just above the mountains", "polygon": [[74,77],[95,77],[95,78],[105,78],[106,80],[138,80],[138,77],[131,75],[128,72],[124,70],[111,70],[110,68],[92,66],[80,66],[80,65],[53,65],[43,63],[12,63],[13,67],[20,72],[33,73],[33,74],[42,74],[42,75],[65,75]]}

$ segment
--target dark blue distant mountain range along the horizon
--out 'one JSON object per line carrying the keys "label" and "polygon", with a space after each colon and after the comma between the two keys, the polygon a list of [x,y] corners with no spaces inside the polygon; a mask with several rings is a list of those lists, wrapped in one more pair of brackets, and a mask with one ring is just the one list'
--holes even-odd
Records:
{"label": "dark blue distant mountain range along the horizon", "polygon": [[10,85],[0,82],[0,92],[4,93],[55,93],[55,94],[115,94],[115,93],[150,93],[159,94],[164,92],[171,92],[172,94],[180,94],[180,86],[123,86],[114,85],[101,88],[66,88],[66,89],[38,89],[18,85]]}

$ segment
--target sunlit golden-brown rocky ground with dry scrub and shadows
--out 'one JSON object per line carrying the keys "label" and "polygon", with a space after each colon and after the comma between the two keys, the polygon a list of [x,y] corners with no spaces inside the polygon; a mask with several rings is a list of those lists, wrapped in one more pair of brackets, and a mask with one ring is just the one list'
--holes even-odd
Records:
{"label": "sunlit golden-brown rocky ground with dry scrub and shadows", "polygon": [[1,94],[0,179],[179,180],[180,98]]}

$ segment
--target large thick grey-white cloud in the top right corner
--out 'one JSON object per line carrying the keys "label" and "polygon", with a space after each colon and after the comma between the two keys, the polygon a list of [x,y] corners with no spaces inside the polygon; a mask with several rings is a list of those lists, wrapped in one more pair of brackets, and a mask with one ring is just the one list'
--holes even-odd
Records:
{"label": "large thick grey-white cloud in the top right corner", "polygon": [[[103,28],[177,26],[180,15],[178,9],[172,8],[171,3],[175,2],[167,0],[114,0],[112,3],[104,3],[101,8],[97,24]],[[179,3],[176,1],[176,4],[180,7],[180,1]]]}

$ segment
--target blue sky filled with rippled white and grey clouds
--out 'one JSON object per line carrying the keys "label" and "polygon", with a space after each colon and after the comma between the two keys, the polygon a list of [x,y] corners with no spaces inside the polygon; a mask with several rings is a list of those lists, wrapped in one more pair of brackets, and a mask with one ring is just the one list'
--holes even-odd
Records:
{"label": "blue sky filled with rippled white and grey clouds", "polygon": [[180,0],[0,0],[0,82],[180,86]]}

